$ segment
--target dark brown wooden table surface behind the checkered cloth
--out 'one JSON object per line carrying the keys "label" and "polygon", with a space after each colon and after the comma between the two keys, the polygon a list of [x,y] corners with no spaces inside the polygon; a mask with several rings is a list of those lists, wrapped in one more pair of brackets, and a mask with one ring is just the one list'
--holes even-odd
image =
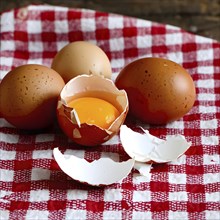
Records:
{"label": "dark brown wooden table surface behind the checkered cloth", "polygon": [[42,3],[143,18],[220,41],[220,0],[1,0],[0,11]]}

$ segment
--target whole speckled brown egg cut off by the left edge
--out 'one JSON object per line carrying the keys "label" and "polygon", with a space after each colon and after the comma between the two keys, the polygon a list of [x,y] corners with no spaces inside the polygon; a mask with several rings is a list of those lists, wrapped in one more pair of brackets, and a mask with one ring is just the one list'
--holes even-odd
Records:
{"label": "whole speckled brown egg cut off by the left edge", "polygon": [[0,113],[21,129],[41,129],[51,125],[65,83],[54,70],[35,64],[10,71],[0,84]]}

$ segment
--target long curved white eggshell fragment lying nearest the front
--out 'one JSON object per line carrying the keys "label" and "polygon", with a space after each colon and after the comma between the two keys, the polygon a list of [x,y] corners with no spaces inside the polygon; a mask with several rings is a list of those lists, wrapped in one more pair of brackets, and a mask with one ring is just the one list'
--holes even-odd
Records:
{"label": "long curved white eggshell fragment lying nearest the front", "polygon": [[100,158],[93,162],[74,155],[64,155],[58,148],[53,155],[60,169],[68,176],[93,186],[110,185],[124,179],[134,166],[134,159],[115,162],[110,158]]}

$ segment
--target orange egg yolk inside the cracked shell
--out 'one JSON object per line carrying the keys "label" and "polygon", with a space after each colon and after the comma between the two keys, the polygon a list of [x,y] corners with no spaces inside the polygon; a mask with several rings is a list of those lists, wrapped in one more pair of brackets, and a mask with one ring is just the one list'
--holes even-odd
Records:
{"label": "orange egg yolk inside the cracked shell", "polygon": [[80,123],[87,123],[107,129],[120,115],[119,111],[109,102],[93,97],[83,97],[68,103],[78,114]]}

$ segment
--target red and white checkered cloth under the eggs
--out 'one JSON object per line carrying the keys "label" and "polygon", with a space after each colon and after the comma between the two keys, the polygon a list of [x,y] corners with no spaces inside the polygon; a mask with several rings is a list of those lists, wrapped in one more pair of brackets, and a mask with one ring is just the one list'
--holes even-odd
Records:
{"label": "red and white checkered cloth under the eggs", "polygon": [[86,40],[106,52],[113,79],[134,59],[164,57],[189,71],[197,91],[193,109],[180,120],[143,125],[160,138],[183,134],[192,142],[186,154],[154,165],[149,177],[133,170],[122,182],[101,188],[70,179],[57,166],[52,150],[59,147],[90,160],[123,160],[126,153],[118,136],[86,149],[56,127],[24,132],[0,118],[0,219],[220,219],[219,42],[170,25],[47,5],[2,13],[0,38],[1,78],[26,63],[50,66],[64,45]]}

